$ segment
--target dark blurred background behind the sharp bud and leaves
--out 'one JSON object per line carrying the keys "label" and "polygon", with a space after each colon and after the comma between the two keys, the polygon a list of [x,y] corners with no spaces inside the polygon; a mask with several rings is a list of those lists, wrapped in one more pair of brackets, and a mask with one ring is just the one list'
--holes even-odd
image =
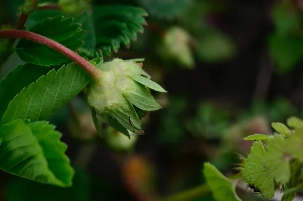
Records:
{"label": "dark blurred background behind the sharp bud and leaves", "polygon": [[[1,24],[14,25],[23,1],[0,3]],[[129,140],[106,128],[111,138],[104,141],[83,97],[76,97],[49,119],[69,146],[67,154],[77,170],[73,187],[45,186],[0,172],[0,200],[157,200],[203,185],[205,161],[225,175],[236,173],[236,153],[246,156],[251,146],[243,137],[273,132],[271,122],[302,117],[302,1],[93,4],[109,3],[141,6],[149,13],[144,34],[112,58],[144,57],[144,69],[169,92],[155,94],[164,109],[142,120],[145,135]],[[27,28],[39,16],[60,12],[37,11]],[[20,63],[13,54],[1,76]],[[261,199],[249,193],[241,198]],[[206,194],[188,200],[213,198]]]}

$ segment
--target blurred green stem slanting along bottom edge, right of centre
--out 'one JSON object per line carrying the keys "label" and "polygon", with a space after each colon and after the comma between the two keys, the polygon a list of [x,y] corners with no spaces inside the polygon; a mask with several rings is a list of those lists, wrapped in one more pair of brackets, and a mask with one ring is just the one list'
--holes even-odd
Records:
{"label": "blurred green stem slanting along bottom edge, right of centre", "polygon": [[208,193],[210,193],[210,189],[207,185],[204,184],[175,195],[170,195],[169,197],[160,199],[159,201],[190,201],[194,198],[199,198]]}

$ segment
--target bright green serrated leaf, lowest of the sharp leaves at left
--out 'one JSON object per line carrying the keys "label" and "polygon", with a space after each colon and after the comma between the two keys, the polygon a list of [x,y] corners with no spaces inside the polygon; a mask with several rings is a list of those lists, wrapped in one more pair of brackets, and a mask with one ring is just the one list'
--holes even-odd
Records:
{"label": "bright green serrated leaf, lowest of the sharp leaves at left", "polygon": [[74,170],[61,134],[47,122],[14,120],[0,127],[0,169],[30,180],[71,186]]}

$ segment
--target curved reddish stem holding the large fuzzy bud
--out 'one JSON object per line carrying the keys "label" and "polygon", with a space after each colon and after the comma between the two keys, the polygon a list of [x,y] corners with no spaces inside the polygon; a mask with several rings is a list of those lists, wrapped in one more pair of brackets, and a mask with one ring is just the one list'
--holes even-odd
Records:
{"label": "curved reddish stem holding the large fuzzy bud", "polygon": [[60,52],[61,54],[67,56],[72,61],[80,65],[81,68],[84,69],[84,71],[86,71],[92,77],[92,79],[99,79],[98,70],[93,64],[91,64],[69,48],[61,45],[60,43],[52,39],[24,30],[2,30],[0,31],[0,38],[22,38],[45,45],[49,48],[54,49],[55,51]]}

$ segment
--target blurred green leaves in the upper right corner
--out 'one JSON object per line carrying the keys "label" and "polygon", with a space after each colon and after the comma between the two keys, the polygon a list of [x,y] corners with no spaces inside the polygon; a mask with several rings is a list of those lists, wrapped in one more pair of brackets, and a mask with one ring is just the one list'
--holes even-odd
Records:
{"label": "blurred green leaves in the upper right corner", "polygon": [[290,72],[301,59],[303,51],[301,9],[296,2],[277,1],[272,9],[275,31],[269,36],[270,54],[278,69]]}

